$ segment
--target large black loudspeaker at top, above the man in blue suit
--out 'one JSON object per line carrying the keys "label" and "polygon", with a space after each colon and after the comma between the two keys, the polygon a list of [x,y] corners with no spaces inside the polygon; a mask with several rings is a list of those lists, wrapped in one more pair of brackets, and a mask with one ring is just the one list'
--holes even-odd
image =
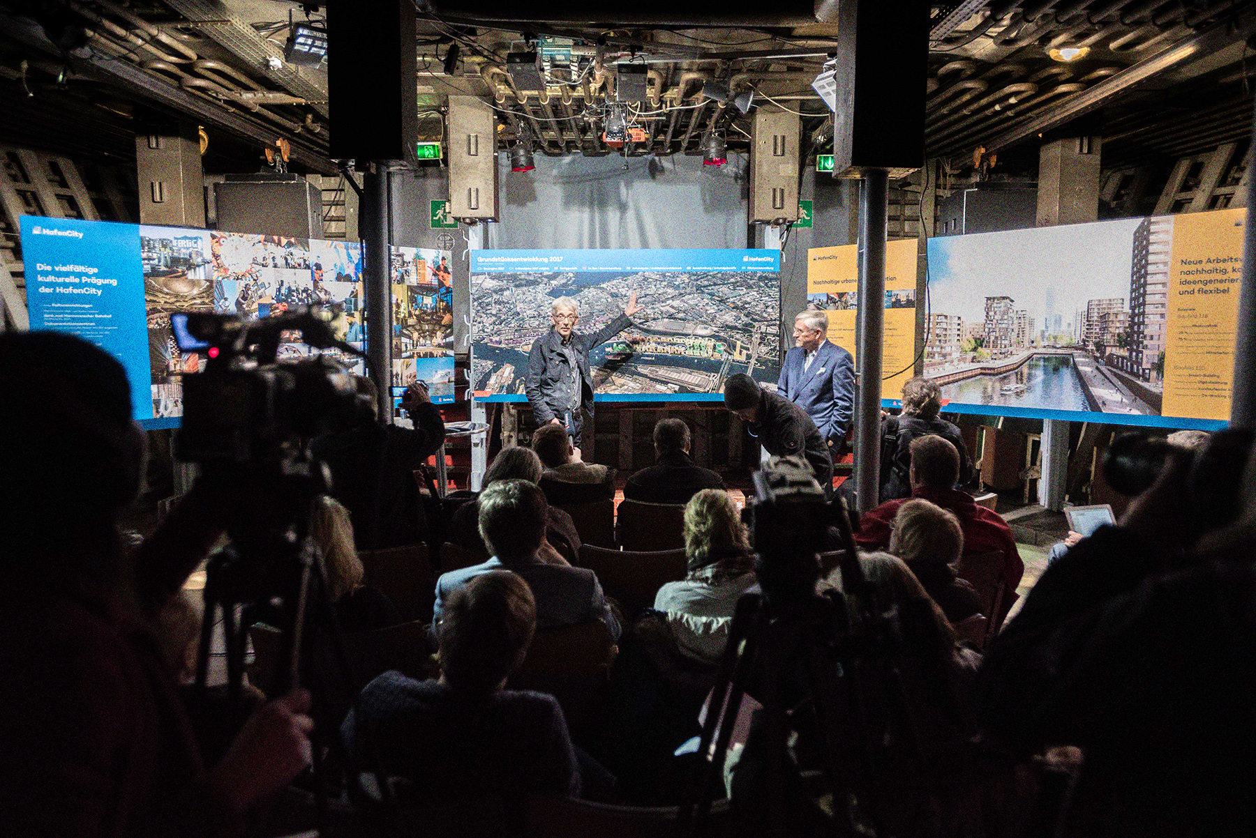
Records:
{"label": "large black loudspeaker at top, above the man in blue suit", "polygon": [[927,0],[842,0],[834,174],[922,166],[928,58]]}

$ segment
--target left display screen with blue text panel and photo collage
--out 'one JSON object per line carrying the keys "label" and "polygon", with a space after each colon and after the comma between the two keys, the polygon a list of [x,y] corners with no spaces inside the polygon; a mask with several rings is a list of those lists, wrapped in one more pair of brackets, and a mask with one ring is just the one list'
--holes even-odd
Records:
{"label": "left display screen with blue text panel and photo collage", "polygon": [[[200,354],[176,345],[173,312],[256,320],[317,304],[340,340],[364,347],[355,242],[23,216],[21,243],[31,329],[73,332],[113,354],[131,381],[133,416],[149,428],[180,424],[182,376],[203,369]],[[413,248],[392,253],[392,384],[427,380],[433,401],[453,400],[448,258]],[[317,351],[288,341],[279,359]],[[364,373],[360,359],[325,351]]]}

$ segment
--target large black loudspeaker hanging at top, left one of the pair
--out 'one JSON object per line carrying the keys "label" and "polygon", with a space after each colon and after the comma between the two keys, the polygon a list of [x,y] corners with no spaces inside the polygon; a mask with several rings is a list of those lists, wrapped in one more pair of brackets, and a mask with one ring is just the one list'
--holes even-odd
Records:
{"label": "large black loudspeaker hanging at top, left one of the pair", "polygon": [[414,3],[329,3],[332,159],[417,163]]}

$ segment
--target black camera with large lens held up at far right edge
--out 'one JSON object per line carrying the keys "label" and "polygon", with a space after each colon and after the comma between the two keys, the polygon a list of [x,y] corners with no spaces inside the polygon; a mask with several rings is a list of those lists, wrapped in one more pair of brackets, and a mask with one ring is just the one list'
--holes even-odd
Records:
{"label": "black camera with large lens held up at far right edge", "polygon": [[[1187,475],[1187,496],[1199,532],[1225,526],[1238,517],[1243,468],[1252,449],[1250,428],[1227,428],[1192,450]],[[1145,492],[1161,472],[1173,448],[1167,439],[1128,433],[1117,437],[1108,448],[1104,477],[1124,496]]]}

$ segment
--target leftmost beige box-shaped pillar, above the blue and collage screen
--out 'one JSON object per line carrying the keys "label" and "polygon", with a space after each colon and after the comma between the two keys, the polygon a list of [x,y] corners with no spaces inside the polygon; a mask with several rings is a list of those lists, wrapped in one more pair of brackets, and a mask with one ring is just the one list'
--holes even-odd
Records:
{"label": "leftmost beige box-shaped pillar, above the blue and collage screen", "polygon": [[136,135],[139,223],[205,227],[205,171],[196,125]]}

